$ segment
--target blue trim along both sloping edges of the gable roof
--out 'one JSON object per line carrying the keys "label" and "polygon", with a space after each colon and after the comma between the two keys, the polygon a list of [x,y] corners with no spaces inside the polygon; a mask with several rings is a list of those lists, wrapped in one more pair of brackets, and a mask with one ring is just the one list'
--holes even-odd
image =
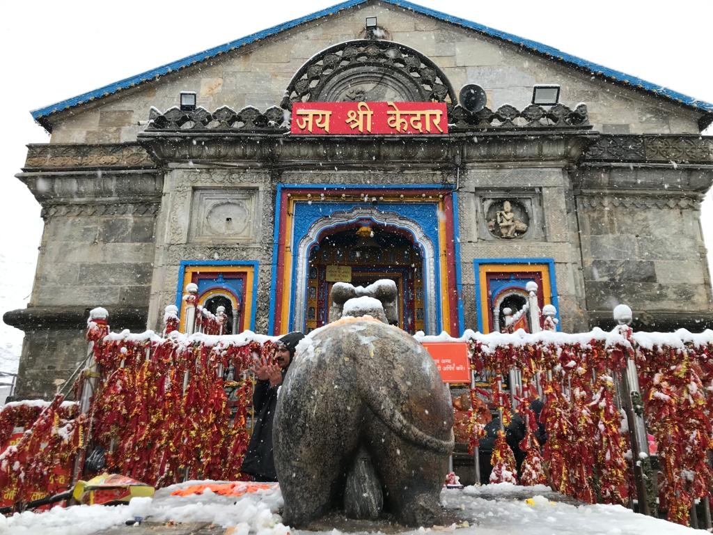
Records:
{"label": "blue trim along both sloping edges of the gable roof", "polygon": [[[258,31],[255,34],[250,34],[249,36],[242,37],[241,39],[237,39],[235,41],[230,41],[230,43],[226,43],[226,44],[223,44],[220,46],[215,46],[212,49],[207,49],[205,51],[199,52],[198,54],[193,54],[193,56],[188,56],[186,58],[179,59],[178,61],[174,61],[173,63],[168,63],[168,64],[160,66],[158,68],[154,68],[151,71],[146,71],[146,72],[140,73],[136,76],[131,76],[130,78],[124,78],[123,80],[120,80],[115,83],[111,83],[108,86],[103,86],[101,88],[95,89],[94,91],[89,91],[88,93],[83,93],[79,96],[75,96],[73,98],[68,98],[65,101],[61,101],[61,102],[52,104],[51,106],[46,106],[45,108],[36,109],[34,111],[31,111],[30,113],[32,114],[32,117],[35,119],[35,121],[41,121],[43,118],[46,118],[46,116],[51,115],[52,113],[56,113],[58,111],[63,111],[63,110],[66,110],[67,108],[71,108],[73,106],[78,106],[79,104],[86,103],[88,101],[92,101],[95,98],[101,98],[103,96],[112,95],[113,93],[116,93],[116,91],[120,91],[121,89],[137,86],[139,83],[143,83],[145,81],[159,78],[160,76],[164,76],[165,74],[178,71],[181,68],[188,67],[190,65],[193,65],[194,63],[200,63],[201,61],[205,61],[205,60],[215,57],[219,54],[225,54],[226,52],[235,50],[237,48],[240,48],[241,46],[245,46],[247,44],[252,44],[255,41],[259,41],[260,39],[265,39],[272,35],[278,34],[280,31],[292,29],[295,26],[299,26],[299,24],[303,24],[303,23],[309,22],[309,21],[314,21],[315,19],[319,19],[323,16],[333,15],[333,14],[336,14],[339,11],[342,11],[344,9],[349,9],[354,6],[358,6],[359,4],[364,4],[366,1],[369,1],[369,0],[347,0],[347,1],[342,2],[341,4],[336,4],[332,7],[327,8],[327,9],[322,9],[321,11],[315,11],[314,13],[300,17],[299,19],[294,19],[292,21],[285,22],[285,23],[279,24],[277,26],[272,26],[272,28]],[[508,41],[509,43],[512,43],[512,44],[515,44],[518,46],[522,46],[525,49],[530,49],[532,51],[535,51],[538,54],[550,56],[553,59],[558,59],[565,63],[569,63],[570,65],[576,66],[578,68],[587,69],[588,71],[590,71],[591,73],[593,73],[595,75],[605,76],[606,78],[610,78],[612,81],[632,86],[632,88],[639,88],[644,91],[648,91],[650,93],[653,93],[656,96],[668,98],[670,101],[674,101],[674,102],[682,104],[684,106],[689,106],[689,107],[697,109],[699,111],[713,113],[713,103],[700,101],[697,98],[693,98],[691,96],[684,95],[683,93],[678,93],[677,91],[672,91],[671,89],[665,88],[664,86],[660,86],[655,83],[651,83],[651,82],[642,80],[642,78],[637,78],[636,76],[630,76],[626,73],[622,73],[621,71],[615,71],[614,69],[607,68],[605,66],[599,65],[598,63],[592,63],[591,61],[587,61],[583,58],[578,58],[577,56],[571,56],[570,54],[565,54],[563,51],[560,51],[559,49],[555,49],[551,46],[547,46],[545,44],[538,43],[537,41],[530,41],[530,39],[523,39],[523,38],[515,36],[513,34],[508,34],[504,31],[499,31],[499,30],[490,28],[489,26],[483,26],[482,24],[477,24],[475,22],[471,22],[466,19],[460,19],[456,16],[448,15],[441,11],[436,11],[434,9],[429,9],[424,6],[419,6],[418,4],[412,4],[409,1],[405,1],[405,0],[381,0],[381,1],[384,2],[385,4],[391,4],[393,6],[401,7],[403,9],[409,9],[410,11],[414,11],[419,14],[423,14],[426,16],[432,16],[436,19],[440,19],[441,21],[446,21],[451,24],[463,26],[463,28],[478,31],[481,34],[486,34],[488,36],[495,37],[496,39]]]}

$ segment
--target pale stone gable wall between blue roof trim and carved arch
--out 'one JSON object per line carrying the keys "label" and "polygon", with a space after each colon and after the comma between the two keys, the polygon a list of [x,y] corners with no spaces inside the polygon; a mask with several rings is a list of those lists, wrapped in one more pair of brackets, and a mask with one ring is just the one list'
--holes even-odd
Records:
{"label": "pale stone gable wall between blue roof trim and carved arch", "polygon": [[[150,108],[178,106],[180,91],[198,93],[198,106],[235,111],[279,106],[289,81],[309,58],[343,41],[364,39],[366,16],[378,16],[385,38],[428,56],[456,93],[467,83],[482,86],[488,107],[530,103],[535,83],[558,83],[560,101],[587,103],[590,122],[603,133],[698,133],[699,114],[674,104],[593,79],[558,61],[518,46],[458,28],[395,6],[359,6],[284,31],[210,61],[170,73],[71,111],[56,114],[52,143],[123,143],[145,129]],[[240,36],[236,36],[236,39]],[[218,43],[216,43],[218,45]],[[178,58],[177,58],[178,59]],[[90,91],[93,88],[87,88]]]}

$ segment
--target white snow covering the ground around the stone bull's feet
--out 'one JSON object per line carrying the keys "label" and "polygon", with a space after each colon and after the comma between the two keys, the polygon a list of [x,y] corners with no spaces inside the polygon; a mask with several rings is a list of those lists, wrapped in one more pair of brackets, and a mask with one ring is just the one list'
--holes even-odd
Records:
{"label": "white snow covering the ground around the stone bull's feet", "polygon": [[[135,498],[122,506],[56,507],[45,513],[24,512],[9,518],[0,516],[0,534],[88,535],[124,524],[135,516],[151,521],[210,521],[237,526],[240,535],[306,535],[282,524],[277,511],[282,507],[279,487],[252,494],[220,496],[211,491],[197,496],[171,496],[171,492],[196,481],[156,491],[153,499]],[[684,535],[702,534],[665,520],[636,514],[622,506],[575,506],[551,501],[557,496],[547,486],[523,487],[512,484],[466,486],[444,489],[441,503],[455,511],[458,521],[450,526],[404,529],[403,535],[453,532],[457,535]],[[560,496],[561,497],[561,496]],[[391,530],[392,531],[392,530]],[[309,532],[312,533],[312,532]],[[339,530],[323,531],[339,535]]]}

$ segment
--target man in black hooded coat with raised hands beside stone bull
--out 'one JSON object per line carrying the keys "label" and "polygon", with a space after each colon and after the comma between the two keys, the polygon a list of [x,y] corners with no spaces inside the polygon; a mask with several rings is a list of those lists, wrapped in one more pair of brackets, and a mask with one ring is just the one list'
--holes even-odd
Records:
{"label": "man in black hooded coat with raised hands beside stone bull", "polygon": [[302,332],[284,335],[277,340],[276,364],[263,359],[252,366],[252,372],[257,378],[252,393],[255,427],[252,428],[250,444],[240,471],[250,474],[255,481],[277,481],[272,457],[272,419],[277,406],[277,389],[282,384],[284,374],[294,358],[294,350],[302,338]]}

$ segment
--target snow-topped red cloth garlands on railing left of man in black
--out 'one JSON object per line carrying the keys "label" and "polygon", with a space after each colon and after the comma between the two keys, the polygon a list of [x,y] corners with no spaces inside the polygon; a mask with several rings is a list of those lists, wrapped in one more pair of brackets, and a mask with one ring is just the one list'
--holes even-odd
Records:
{"label": "snow-topped red cloth garlands on railing left of man in black", "polygon": [[254,356],[274,352],[270,341],[185,345],[169,338],[158,344],[105,340],[97,345],[98,362],[113,370],[96,397],[93,437],[109,452],[108,468],[155,486],[186,477],[239,479],[252,384],[232,382],[232,416],[217,372],[232,366],[240,378]]}

